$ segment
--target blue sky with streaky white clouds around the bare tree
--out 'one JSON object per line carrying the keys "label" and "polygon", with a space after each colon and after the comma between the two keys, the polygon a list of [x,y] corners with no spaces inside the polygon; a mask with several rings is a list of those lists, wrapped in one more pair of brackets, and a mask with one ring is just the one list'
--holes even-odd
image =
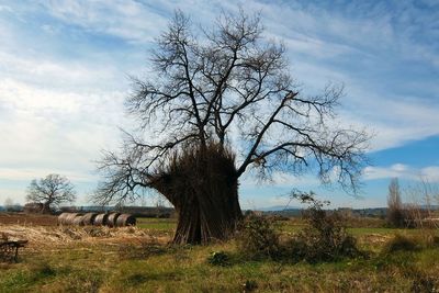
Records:
{"label": "blue sky with streaky white clouds around the bare tree", "polygon": [[128,76],[145,75],[175,10],[212,25],[239,7],[284,43],[305,91],[342,82],[340,123],[373,134],[359,196],[312,174],[264,184],[247,176],[243,209],[284,205],[292,189],[334,207],[385,206],[392,178],[439,183],[438,0],[0,0],[0,205],[23,204],[31,180],[48,173],[68,177],[87,204],[102,149],[117,149],[133,123],[123,106]]}

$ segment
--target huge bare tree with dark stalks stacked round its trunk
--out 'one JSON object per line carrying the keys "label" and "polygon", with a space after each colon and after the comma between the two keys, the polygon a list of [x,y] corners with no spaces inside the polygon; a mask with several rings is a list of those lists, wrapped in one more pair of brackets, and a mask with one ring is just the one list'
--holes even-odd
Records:
{"label": "huge bare tree with dark stalks stacked round its trunk", "polygon": [[302,94],[284,46],[262,37],[258,15],[221,15],[202,31],[195,37],[177,12],[157,40],[155,76],[134,79],[126,99],[139,127],[125,133],[120,154],[104,154],[95,200],[156,189],[178,212],[173,241],[206,243],[241,218],[238,179],[249,169],[262,179],[316,170],[356,192],[368,136],[328,124],[342,88]]}

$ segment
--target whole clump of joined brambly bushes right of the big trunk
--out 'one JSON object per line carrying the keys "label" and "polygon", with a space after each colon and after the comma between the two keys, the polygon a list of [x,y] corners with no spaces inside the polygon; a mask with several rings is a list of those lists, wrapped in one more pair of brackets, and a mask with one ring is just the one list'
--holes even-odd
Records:
{"label": "whole clump of joined brambly bushes right of the big trunk", "polygon": [[251,259],[268,257],[307,262],[364,256],[356,238],[347,233],[344,218],[336,212],[323,210],[327,202],[315,200],[313,193],[294,196],[311,204],[304,213],[307,226],[282,243],[272,219],[250,214],[237,239],[241,255]]}

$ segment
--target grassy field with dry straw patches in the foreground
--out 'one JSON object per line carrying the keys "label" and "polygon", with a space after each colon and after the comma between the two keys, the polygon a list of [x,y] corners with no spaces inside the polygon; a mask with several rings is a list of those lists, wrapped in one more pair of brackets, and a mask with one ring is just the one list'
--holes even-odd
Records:
{"label": "grassy field with dry straw patches in the foreground", "polygon": [[[1,214],[0,214],[1,215]],[[50,224],[52,223],[52,224]],[[437,292],[439,248],[382,252],[395,230],[364,222],[350,228],[368,257],[337,262],[249,261],[233,241],[167,245],[173,219],[139,218],[138,226],[57,227],[56,219],[1,215],[0,233],[30,239],[19,263],[0,264],[0,292]],[[303,223],[281,221],[284,236]],[[363,226],[363,227],[361,227]],[[214,251],[229,256],[213,266]],[[435,291],[436,290],[436,291]]]}

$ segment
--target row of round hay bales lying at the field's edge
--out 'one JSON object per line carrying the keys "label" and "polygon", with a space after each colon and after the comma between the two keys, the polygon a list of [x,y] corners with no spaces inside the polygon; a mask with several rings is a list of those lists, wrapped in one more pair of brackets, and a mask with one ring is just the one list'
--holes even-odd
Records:
{"label": "row of round hay bales lying at the field's edge", "polygon": [[63,213],[58,216],[58,225],[124,227],[136,225],[136,218],[121,213]]}

